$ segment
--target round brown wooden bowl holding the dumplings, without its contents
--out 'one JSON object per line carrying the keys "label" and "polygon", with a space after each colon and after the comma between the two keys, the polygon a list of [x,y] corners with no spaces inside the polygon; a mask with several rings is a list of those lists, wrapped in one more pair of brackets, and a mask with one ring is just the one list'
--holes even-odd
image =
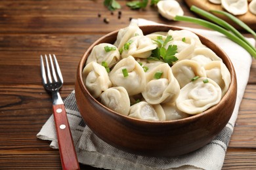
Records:
{"label": "round brown wooden bowl holding the dumplings, without its contents", "polygon": [[[180,30],[167,25],[140,27],[144,35],[156,31]],[[93,46],[102,42],[114,43],[117,31],[104,35],[85,52],[77,69],[75,97],[87,126],[103,141],[116,148],[144,156],[179,156],[192,152],[212,141],[226,126],[236,103],[236,73],[226,54],[213,42],[198,35],[203,44],[223,59],[230,71],[231,83],[219,104],[204,112],[165,122],[150,122],[123,116],[104,107],[85,88],[82,71]]]}

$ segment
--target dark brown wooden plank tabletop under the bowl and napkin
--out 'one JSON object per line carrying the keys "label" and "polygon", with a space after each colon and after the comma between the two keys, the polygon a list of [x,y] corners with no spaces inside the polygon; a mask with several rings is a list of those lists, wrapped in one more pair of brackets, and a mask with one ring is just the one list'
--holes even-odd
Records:
{"label": "dark brown wooden plank tabletop under the bowl and napkin", "polygon": [[[171,22],[157,9],[130,10],[121,3],[121,18],[111,14],[103,1],[0,2],[0,169],[61,169],[58,150],[35,136],[51,115],[51,95],[41,84],[39,56],[58,57],[66,97],[74,90],[79,59],[96,39],[126,27],[130,18],[146,18],[163,24],[200,27]],[[194,16],[179,1],[188,16]],[[101,14],[98,17],[98,14]],[[103,20],[108,18],[106,24]],[[242,57],[242,56],[241,56]],[[256,61],[240,106],[223,169],[256,169]],[[88,169],[81,165],[82,169]]]}

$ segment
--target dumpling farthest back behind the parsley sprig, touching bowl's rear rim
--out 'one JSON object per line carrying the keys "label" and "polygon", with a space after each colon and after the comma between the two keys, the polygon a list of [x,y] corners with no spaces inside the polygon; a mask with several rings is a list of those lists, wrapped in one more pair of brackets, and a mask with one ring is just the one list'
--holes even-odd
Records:
{"label": "dumpling farthest back behind the parsley sprig, touching bowl's rear rim", "polygon": [[190,39],[194,39],[194,41],[196,42],[196,47],[205,46],[200,41],[198,35],[196,35],[192,31],[188,31],[186,29],[181,29],[181,30],[171,30],[170,29],[168,31],[167,35],[171,35],[171,37],[173,37],[173,40],[175,40],[175,41],[187,42],[187,41],[190,41]]}

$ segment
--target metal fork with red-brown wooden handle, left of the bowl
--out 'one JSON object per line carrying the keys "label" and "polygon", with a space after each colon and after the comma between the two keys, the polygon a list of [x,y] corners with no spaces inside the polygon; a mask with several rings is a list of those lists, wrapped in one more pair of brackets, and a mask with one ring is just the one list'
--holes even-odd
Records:
{"label": "metal fork with red-brown wooden handle, left of the bowl", "polygon": [[41,73],[45,90],[51,92],[53,95],[53,114],[58,137],[58,147],[60,151],[62,169],[79,169],[79,163],[75,153],[75,147],[70,132],[70,126],[68,124],[66,110],[62,98],[60,97],[60,93],[58,92],[62,87],[63,78],[60,72],[58,61],[54,54],[53,58],[51,54],[49,54],[51,63],[50,68],[47,55],[45,54],[45,64],[43,61],[43,56],[41,55]]}

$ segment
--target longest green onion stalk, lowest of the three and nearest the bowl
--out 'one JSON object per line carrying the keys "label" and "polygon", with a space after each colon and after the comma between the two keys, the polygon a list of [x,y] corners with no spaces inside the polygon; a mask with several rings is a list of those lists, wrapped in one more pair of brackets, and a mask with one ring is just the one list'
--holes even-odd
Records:
{"label": "longest green onion stalk, lowest of the three and nearest the bowl", "polygon": [[230,33],[229,31],[227,31],[223,27],[220,27],[219,25],[213,24],[211,22],[207,22],[202,19],[190,17],[190,16],[175,16],[174,19],[176,21],[185,21],[185,22],[192,22],[195,24],[200,24],[203,27],[207,27],[207,28],[213,29],[215,31],[219,31],[220,33],[223,33],[224,35],[226,35],[226,37],[228,37],[230,40],[236,42],[237,44],[240,44],[240,46],[242,46],[245,50],[247,50],[247,52],[249,52],[249,54],[251,54],[251,56],[253,56],[253,58],[256,58],[255,49],[251,48],[251,46],[249,46],[246,42],[242,41],[241,39],[236,37],[236,35],[234,35],[233,33]]}

